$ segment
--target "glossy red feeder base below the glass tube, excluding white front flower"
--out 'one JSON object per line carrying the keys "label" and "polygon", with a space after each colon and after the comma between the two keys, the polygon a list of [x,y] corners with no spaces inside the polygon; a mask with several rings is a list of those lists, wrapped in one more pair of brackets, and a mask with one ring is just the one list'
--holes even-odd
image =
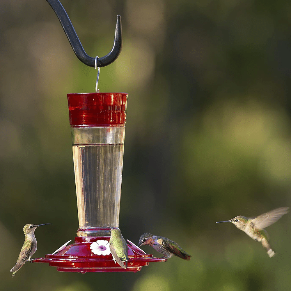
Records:
{"label": "glossy red feeder base below the glass tube, excluding white front flower", "polygon": [[113,261],[111,254],[95,255],[90,245],[97,240],[109,241],[110,237],[75,237],[75,243],[66,246],[55,255],[32,259],[32,262],[49,263],[60,272],[137,272],[149,262],[165,262],[167,259],[154,258],[130,241],[128,244],[127,268],[123,269]]}

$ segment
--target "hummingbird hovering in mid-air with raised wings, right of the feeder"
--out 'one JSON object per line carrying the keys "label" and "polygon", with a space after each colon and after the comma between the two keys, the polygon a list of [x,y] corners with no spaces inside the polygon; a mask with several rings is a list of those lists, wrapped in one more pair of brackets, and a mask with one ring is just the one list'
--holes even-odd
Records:
{"label": "hummingbird hovering in mid-air with raised wings, right of the feeder", "polygon": [[244,217],[237,216],[233,219],[220,222],[232,222],[238,229],[244,231],[249,237],[254,239],[257,242],[262,242],[262,246],[266,249],[267,254],[270,258],[275,255],[275,252],[272,250],[268,239],[268,233],[264,229],[265,227],[275,223],[282,217],[282,215],[289,212],[289,207],[280,207],[274,210],[271,210],[267,213],[261,214],[258,217]]}

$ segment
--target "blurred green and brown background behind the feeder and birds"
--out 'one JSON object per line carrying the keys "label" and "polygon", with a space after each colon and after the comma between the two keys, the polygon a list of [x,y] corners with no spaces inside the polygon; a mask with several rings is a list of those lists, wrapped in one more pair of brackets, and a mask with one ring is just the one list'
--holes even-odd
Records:
{"label": "blurred green and brown background behind the feeder and birds", "polygon": [[[290,214],[267,230],[278,252],[215,224],[290,206],[290,1],[63,0],[85,51],[106,55],[116,15],[123,49],[101,92],[129,93],[120,229],[173,239],[192,255],[134,273],[61,273],[25,264],[78,228],[67,93],[94,92],[45,0],[1,1],[0,290],[289,290]],[[159,256],[151,247],[143,249]]]}

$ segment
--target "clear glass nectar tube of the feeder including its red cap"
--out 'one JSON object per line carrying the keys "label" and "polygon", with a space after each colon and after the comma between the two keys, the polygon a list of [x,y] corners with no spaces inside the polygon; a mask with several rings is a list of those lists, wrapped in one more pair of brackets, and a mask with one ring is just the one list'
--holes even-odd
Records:
{"label": "clear glass nectar tube of the feeder including its red cap", "polygon": [[118,227],[127,93],[68,94],[79,229]]}

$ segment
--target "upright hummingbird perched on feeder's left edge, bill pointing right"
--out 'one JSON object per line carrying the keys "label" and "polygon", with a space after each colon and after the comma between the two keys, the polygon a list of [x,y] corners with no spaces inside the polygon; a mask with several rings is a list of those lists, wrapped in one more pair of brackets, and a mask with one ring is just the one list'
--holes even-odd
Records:
{"label": "upright hummingbird perched on feeder's left edge, bill pointing right", "polygon": [[51,224],[51,223],[44,223],[44,224],[26,224],[23,228],[23,232],[25,235],[24,244],[22,246],[22,249],[19,253],[19,257],[17,259],[17,262],[15,266],[10,270],[10,272],[13,272],[12,277],[14,277],[15,273],[27,262],[31,261],[31,256],[36,252],[37,249],[37,242],[36,237],[34,235],[34,231],[37,227]]}

